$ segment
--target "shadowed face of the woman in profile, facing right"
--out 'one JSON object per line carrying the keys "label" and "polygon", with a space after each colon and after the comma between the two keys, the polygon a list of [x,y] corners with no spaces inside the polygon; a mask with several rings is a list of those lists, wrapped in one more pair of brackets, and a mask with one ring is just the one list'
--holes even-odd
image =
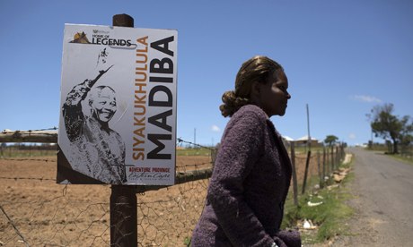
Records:
{"label": "shadowed face of the woman in profile, facing right", "polygon": [[287,89],[288,79],[282,70],[277,70],[269,76],[267,83],[259,83],[259,105],[268,117],[286,114],[287,101],[291,98]]}

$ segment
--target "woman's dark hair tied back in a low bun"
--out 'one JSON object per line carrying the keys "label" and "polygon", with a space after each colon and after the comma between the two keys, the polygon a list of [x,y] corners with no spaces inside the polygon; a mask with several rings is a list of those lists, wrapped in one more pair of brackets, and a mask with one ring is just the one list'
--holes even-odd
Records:
{"label": "woman's dark hair tied back in a low bun", "polygon": [[264,55],[256,55],[244,62],[237,73],[235,89],[223,94],[224,104],[219,106],[221,114],[232,116],[242,106],[250,104],[252,82],[267,83],[268,76],[277,70],[283,70],[283,67]]}

